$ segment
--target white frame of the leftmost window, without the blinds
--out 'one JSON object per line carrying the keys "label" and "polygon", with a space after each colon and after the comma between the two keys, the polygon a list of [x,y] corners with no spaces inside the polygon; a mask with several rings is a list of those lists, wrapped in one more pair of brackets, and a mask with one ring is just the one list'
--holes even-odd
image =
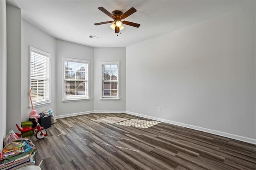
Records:
{"label": "white frame of the leftmost window, without the blinds", "polygon": [[[32,86],[31,85],[31,80],[32,80],[32,77],[31,77],[31,53],[34,52],[34,53],[38,53],[40,55],[44,55],[45,57],[48,57],[48,99],[47,100],[44,100],[44,101],[40,101],[40,102],[36,102],[36,103],[33,103],[33,106],[34,107],[39,107],[39,106],[43,106],[43,105],[49,105],[51,102],[51,54],[46,52],[46,51],[42,51],[40,49],[37,49],[35,47],[32,47],[32,46],[29,46],[29,90],[30,91],[30,87]],[[31,109],[32,108],[32,105],[31,105],[31,102],[30,100],[28,101],[28,107]]]}

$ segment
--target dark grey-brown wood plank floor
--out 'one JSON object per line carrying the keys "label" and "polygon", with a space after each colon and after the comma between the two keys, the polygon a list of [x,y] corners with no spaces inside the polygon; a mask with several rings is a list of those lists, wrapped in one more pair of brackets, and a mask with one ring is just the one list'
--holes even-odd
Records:
{"label": "dark grey-brown wood plank floor", "polygon": [[[158,123],[149,128],[99,123],[101,117],[143,119],[127,114],[88,114],[57,119],[48,136],[31,136],[42,170],[255,170],[256,145]],[[91,121],[90,121],[91,120]]]}

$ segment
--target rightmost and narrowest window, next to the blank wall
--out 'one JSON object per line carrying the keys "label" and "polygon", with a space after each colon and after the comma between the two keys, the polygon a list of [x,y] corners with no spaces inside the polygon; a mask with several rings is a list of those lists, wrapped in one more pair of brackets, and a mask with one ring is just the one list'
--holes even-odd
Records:
{"label": "rightmost and narrowest window, next to the blank wall", "polygon": [[101,98],[119,99],[119,61],[101,62]]}

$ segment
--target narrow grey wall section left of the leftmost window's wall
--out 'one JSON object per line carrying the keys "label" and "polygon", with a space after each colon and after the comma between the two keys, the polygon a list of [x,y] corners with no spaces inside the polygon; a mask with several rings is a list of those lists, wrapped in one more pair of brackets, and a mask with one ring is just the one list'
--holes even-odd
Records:
{"label": "narrow grey wall section left of the leftmost window's wall", "polygon": [[6,5],[7,23],[7,116],[6,130],[16,130],[21,120],[21,14]]}

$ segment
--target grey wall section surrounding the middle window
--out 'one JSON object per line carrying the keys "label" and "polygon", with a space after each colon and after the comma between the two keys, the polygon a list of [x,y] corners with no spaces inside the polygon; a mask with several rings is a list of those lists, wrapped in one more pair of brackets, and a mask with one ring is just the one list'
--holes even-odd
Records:
{"label": "grey wall section surrounding the middle window", "polygon": [[[90,100],[62,102],[62,58],[69,57],[90,61]],[[92,113],[93,111],[93,80],[94,80],[94,48],[76,43],[56,40],[56,116],[67,117]]]}

